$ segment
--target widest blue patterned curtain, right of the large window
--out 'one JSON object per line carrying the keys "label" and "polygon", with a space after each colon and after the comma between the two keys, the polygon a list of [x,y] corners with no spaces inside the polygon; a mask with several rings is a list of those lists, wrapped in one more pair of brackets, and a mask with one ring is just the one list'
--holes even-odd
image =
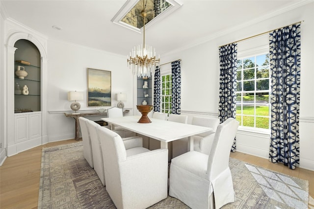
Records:
{"label": "widest blue patterned curtain, right of the large window", "polygon": [[300,24],[269,33],[271,142],[269,161],[299,166]]}

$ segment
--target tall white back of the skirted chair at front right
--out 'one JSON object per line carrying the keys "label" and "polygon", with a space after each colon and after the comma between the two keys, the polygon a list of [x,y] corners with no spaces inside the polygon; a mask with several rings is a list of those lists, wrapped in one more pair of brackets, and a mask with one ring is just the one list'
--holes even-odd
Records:
{"label": "tall white back of the skirted chair at front right", "polygon": [[239,122],[234,118],[228,118],[218,125],[208,159],[207,175],[209,181],[215,180],[220,173],[229,168],[231,147],[238,126]]}

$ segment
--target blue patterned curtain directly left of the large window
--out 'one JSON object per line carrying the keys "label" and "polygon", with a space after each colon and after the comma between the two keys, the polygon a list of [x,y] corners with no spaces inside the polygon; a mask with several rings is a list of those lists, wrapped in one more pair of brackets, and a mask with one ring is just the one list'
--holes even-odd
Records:
{"label": "blue patterned curtain directly left of the large window", "polygon": [[[236,55],[237,44],[219,47],[219,107],[218,118],[223,123],[228,118],[235,118],[236,113]],[[235,152],[235,140],[231,151]]]}

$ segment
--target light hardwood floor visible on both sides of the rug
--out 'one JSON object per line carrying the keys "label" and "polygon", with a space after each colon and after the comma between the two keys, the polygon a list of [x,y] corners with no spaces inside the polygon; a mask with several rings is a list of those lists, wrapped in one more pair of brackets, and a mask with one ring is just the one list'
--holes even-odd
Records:
{"label": "light hardwood floor visible on both sides of the rug", "polygon": [[[42,148],[75,143],[74,139],[52,142],[35,147],[12,157],[7,157],[0,167],[0,208],[37,209]],[[274,164],[261,157],[239,152],[230,157],[255,164],[273,171],[309,181],[309,193],[314,197],[314,171],[302,168],[288,169],[283,164]],[[314,208],[313,203],[309,208]]]}

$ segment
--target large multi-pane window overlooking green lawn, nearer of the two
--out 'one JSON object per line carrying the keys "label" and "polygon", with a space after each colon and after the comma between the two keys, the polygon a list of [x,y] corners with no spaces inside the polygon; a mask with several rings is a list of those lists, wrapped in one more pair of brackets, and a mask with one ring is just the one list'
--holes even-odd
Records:
{"label": "large multi-pane window overlooking green lawn, nearer of the two", "polygon": [[269,129],[269,53],[237,60],[236,120],[241,126]]}

